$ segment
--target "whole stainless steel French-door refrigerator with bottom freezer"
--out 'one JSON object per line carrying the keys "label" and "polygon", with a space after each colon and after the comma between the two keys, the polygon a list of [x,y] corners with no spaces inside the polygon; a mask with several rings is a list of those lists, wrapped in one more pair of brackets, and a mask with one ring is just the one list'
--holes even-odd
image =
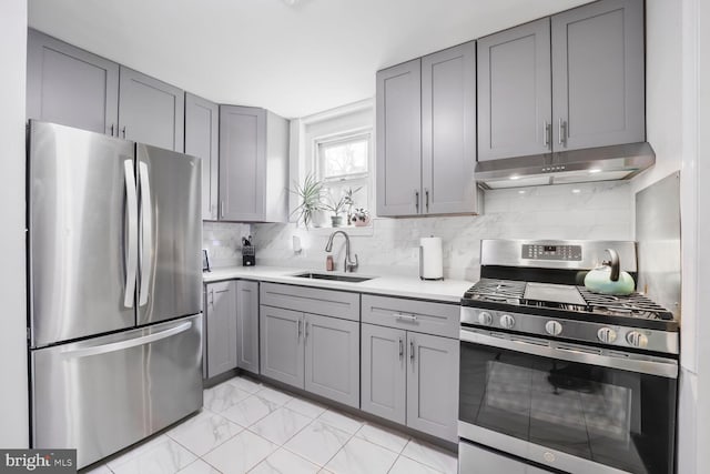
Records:
{"label": "whole stainless steel French-door refrigerator with bottom freezer", "polygon": [[32,446],[83,467],[202,406],[202,167],[37,121],[28,147]]}

